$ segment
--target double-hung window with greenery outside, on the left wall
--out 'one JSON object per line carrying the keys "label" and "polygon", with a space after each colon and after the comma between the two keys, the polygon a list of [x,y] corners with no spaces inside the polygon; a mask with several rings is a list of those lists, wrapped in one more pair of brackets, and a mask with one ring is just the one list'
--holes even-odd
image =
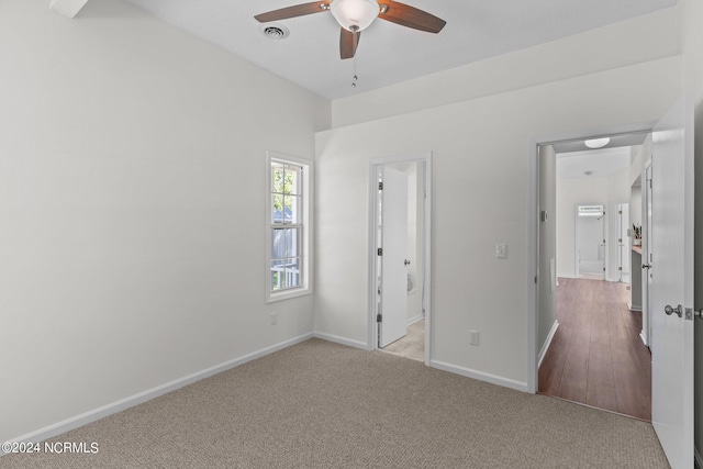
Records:
{"label": "double-hung window with greenery outside, on the left wall", "polygon": [[310,288],[312,163],[268,153],[267,302]]}

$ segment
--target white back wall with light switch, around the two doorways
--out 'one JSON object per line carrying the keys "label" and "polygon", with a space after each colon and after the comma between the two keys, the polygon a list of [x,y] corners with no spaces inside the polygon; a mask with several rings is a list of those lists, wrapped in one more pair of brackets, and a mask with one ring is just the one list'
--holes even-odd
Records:
{"label": "white back wall with light switch, around the two doorways", "polygon": [[[317,133],[315,330],[367,342],[369,159],[432,150],[432,359],[524,388],[528,144],[662,115],[681,92],[680,67],[671,57]],[[495,259],[495,243],[507,259]]]}

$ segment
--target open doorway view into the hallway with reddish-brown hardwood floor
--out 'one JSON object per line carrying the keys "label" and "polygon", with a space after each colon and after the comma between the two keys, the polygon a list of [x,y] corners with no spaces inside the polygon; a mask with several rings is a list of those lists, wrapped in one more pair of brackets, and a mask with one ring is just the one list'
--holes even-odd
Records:
{"label": "open doorway view into the hallway with reddish-brown hardwood floor", "polygon": [[[632,199],[631,178],[635,167],[641,169],[647,135],[606,135],[611,144],[602,149],[585,148],[583,138],[554,142],[538,153],[539,204],[550,205],[543,193],[553,192],[554,200],[553,213],[540,219],[538,258],[540,270],[546,260],[556,264],[556,281],[548,280],[554,273],[539,276],[554,284],[538,288],[536,377],[542,394],[645,421],[651,418],[651,356],[640,338],[641,312],[628,308],[622,263],[624,246],[632,246],[631,237],[623,238],[629,202],[620,209]],[[551,179],[543,172],[549,164]],[[548,230],[553,246],[542,242],[550,237]],[[543,311],[546,305],[551,316]]]}

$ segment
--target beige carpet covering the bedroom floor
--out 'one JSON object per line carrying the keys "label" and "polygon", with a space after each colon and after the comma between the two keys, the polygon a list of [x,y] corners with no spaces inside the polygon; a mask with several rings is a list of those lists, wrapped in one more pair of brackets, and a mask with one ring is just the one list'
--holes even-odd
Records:
{"label": "beige carpet covering the bedroom floor", "polygon": [[311,339],[68,432],[96,455],[0,468],[666,468],[652,427]]}

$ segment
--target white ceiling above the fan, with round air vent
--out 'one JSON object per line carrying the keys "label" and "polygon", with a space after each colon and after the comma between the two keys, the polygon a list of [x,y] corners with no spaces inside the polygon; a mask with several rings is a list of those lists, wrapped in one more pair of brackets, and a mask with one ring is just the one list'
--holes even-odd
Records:
{"label": "white ceiling above the fan, with round air vent", "polygon": [[[429,34],[376,20],[355,59],[339,59],[328,12],[289,19],[286,40],[254,15],[303,0],[125,0],[322,97],[337,99],[671,7],[677,0],[406,0],[447,21]],[[382,1],[381,1],[382,2]],[[358,86],[352,88],[356,72]]]}

